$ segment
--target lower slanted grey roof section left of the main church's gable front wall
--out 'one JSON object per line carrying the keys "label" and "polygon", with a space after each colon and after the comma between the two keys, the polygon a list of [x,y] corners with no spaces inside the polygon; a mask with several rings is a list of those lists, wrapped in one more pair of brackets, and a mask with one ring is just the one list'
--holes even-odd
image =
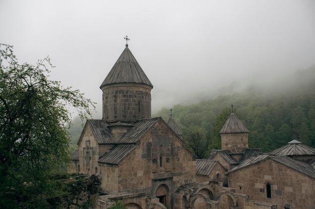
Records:
{"label": "lower slanted grey roof section left of the main church's gable front wall", "polygon": [[128,154],[136,148],[136,144],[120,144],[105,153],[99,162],[118,165]]}

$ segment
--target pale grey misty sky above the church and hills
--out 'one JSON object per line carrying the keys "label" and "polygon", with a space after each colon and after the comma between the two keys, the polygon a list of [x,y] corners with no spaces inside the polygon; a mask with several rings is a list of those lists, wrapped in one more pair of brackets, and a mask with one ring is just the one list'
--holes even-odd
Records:
{"label": "pale grey misty sky above the church and hills", "polygon": [[[315,64],[315,1],[0,0],[0,43],[20,62],[47,55],[51,80],[98,103],[125,48],[153,84],[152,113]],[[231,90],[232,91],[232,90]],[[101,116],[100,116],[101,117]]]}

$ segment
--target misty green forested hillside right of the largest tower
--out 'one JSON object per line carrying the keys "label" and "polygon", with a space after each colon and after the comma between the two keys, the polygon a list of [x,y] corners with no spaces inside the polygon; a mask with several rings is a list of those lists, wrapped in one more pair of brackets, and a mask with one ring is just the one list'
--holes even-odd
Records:
{"label": "misty green forested hillside right of the largest tower", "polygon": [[[218,132],[230,114],[235,114],[250,130],[250,148],[269,152],[292,139],[315,147],[315,66],[273,82],[248,86],[239,93],[221,95],[198,104],[172,107],[173,117],[189,142],[196,133],[201,147],[209,141],[207,153],[220,149]],[[168,121],[170,108],[154,116]],[[204,156],[206,157],[207,153]]]}

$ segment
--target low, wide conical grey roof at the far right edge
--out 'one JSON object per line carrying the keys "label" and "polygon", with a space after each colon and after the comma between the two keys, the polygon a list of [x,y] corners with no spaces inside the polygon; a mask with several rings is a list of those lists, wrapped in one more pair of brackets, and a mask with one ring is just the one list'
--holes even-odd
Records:
{"label": "low, wide conical grey roof at the far right edge", "polygon": [[315,148],[306,146],[297,140],[288,142],[285,146],[269,152],[271,155],[315,155]]}

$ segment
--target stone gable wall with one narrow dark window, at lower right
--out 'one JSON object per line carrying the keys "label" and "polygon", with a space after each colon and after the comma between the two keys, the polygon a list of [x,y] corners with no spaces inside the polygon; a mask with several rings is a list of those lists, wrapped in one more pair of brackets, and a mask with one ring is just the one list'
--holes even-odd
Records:
{"label": "stone gable wall with one narrow dark window, at lower right", "polygon": [[291,208],[315,208],[315,179],[272,159],[229,173],[228,185],[236,192],[249,194],[252,200],[276,204],[278,208],[286,203]]}

